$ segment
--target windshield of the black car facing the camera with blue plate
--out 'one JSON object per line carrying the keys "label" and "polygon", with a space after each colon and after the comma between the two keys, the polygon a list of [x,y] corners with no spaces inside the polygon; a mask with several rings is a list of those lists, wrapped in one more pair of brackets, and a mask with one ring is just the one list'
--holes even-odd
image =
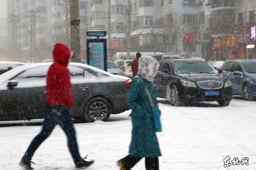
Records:
{"label": "windshield of the black car facing the camera with blue plate", "polygon": [[208,63],[174,63],[176,73],[215,73]]}

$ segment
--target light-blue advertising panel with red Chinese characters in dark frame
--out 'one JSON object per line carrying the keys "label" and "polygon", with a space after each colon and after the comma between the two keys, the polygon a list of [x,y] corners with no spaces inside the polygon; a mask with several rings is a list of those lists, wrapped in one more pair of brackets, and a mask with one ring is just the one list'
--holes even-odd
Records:
{"label": "light-blue advertising panel with red Chinese characters in dark frame", "polygon": [[87,64],[107,71],[107,40],[87,39]]}

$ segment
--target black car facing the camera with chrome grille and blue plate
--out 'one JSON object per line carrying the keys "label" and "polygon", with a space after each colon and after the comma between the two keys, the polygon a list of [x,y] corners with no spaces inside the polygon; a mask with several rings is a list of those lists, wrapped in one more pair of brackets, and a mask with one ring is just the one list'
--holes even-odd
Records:
{"label": "black car facing the camera with chrome grille and blue plate", "polygon": [[181,106],[196,101],[217,101],[228,106],[232,99],[230,80],[218,74],[203,60],[173,59],[159,61],[156,75],[157,95]]}

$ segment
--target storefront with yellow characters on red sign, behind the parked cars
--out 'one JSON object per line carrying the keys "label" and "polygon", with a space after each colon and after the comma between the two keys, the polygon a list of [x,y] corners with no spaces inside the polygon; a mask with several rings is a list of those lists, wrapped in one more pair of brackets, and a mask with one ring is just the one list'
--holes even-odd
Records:
{"label": "storefront with yellow characters on red sign, behind the parked cars", "polygon": [[236,35],[213,38],[211,60],[235,60],[238,58]]}

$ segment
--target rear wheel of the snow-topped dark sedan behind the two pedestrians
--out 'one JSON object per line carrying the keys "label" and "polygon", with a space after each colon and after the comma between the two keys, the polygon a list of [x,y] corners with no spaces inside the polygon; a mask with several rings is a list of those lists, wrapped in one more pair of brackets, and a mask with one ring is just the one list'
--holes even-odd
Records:
{"label": "rear wheel of the snow-topped dark sedan behind the two pedestrians", "polygon": [[111,114],[110,108],[108,101],[105,99],[95,98],[89,100],[84,109],[85,121],[88,123],[99,120],[106,122]]}

